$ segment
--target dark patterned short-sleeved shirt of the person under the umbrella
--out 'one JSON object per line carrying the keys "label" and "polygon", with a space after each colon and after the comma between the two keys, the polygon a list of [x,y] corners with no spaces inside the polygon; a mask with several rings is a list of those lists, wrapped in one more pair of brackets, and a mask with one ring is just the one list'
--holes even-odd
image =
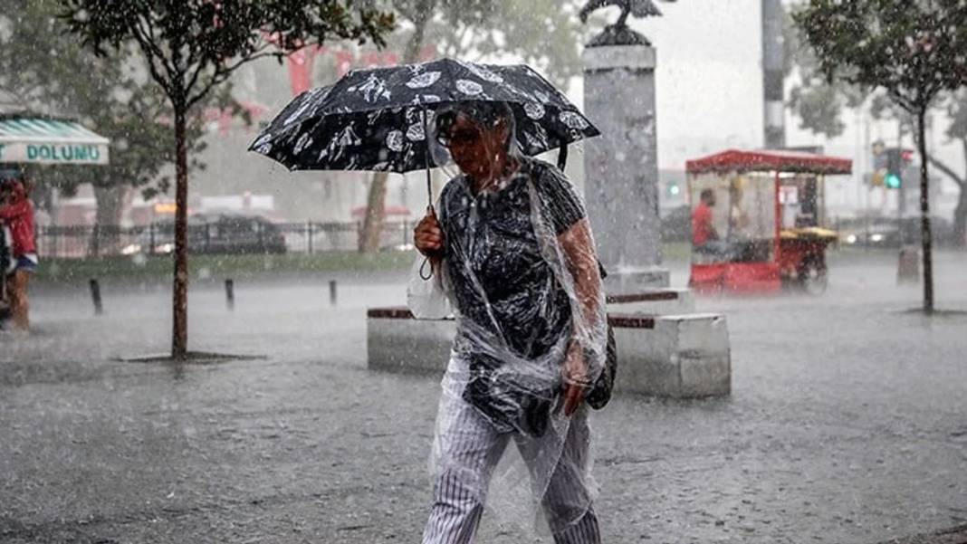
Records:
{"label": "dark patterned short-sleeved shirt of the person under the umbrella", "polygon": [[528,178],[534,180],[541,215],[556,235],[585,216],[560,170],[531,158],[523,159],[500,190],[475,196],[470,180],[458,176],[440,197],[447,272],[456,308],[470,322],[457,330],[454,350],[471,360],[487,359],[493,351],[476,345],[470,328],[504,338],[515,355],[528,359],[546,354],[571,328],[571,301],[544,260],[535,234]]}

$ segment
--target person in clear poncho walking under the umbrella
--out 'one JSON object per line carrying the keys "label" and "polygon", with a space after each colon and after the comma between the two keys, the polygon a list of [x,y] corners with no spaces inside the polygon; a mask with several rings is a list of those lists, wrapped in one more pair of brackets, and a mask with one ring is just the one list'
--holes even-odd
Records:
{"label": "person in clear poncho walking under the umbrella", "polygon": [[454,104],[434,113],[431,129],[434,161],[448,154],[460,173],[414,230],[432,271],[416,284],[445,298],[456,317],[423,542],[474,540],[490,480],[513,442],[554,541],[597,544],[587,399],[605,364],[607,330],[584,206],[559,169],[517,151],[506,103]]}

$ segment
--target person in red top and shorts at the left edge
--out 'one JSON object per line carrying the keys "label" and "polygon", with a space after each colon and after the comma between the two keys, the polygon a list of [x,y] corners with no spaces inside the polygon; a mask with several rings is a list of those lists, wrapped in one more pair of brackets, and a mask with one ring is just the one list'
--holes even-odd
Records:
{"label": "person in red top and shorts at the left edge", "polygon": [[34,242],[34,205],[28,198],[30,184],[22,176],[3,180],[0,221],[10,229],[13,238],[15,270],[8,275],[10,309],[15,329],[27,331],[30,326],[27,284],[37,270],[37,246]]}

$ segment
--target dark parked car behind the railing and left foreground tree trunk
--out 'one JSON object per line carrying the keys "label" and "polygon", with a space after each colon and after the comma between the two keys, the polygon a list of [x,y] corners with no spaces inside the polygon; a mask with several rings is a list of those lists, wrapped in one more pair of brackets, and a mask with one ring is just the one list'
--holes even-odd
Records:
{"label": "dark parked car behind the railing and left foreground tree trunk", "polygon": [[[188,247],[192,253],[261,254],[284,253],[281,230],[259,215],[192,215],[188,225]],[[174,251],[174,221],[160,221],[145,228],[138,241],[122,253],[171,253]]]}

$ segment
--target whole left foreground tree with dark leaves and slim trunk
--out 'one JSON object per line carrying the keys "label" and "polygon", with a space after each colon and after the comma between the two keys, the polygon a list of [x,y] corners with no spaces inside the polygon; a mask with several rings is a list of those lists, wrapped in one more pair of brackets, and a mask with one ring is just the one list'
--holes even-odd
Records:
{"label": "whole left foreground tree with dark leaves and slim trunk", "polygon": [[391,14],[352,0],[62,0],[71,31],[99,55],[132,46],[173,113],[175,265],[171,357],[188,358],[188,118],[239,67],[329,38],[372,40]]}

